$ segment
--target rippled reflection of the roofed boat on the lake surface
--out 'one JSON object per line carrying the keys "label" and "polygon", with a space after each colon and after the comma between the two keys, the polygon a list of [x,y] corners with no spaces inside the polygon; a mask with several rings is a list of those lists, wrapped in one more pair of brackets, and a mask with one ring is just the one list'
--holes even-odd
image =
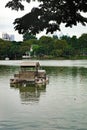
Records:
{"label": "rippled reflection of the roofed boat on the lake surface", "polygon": [[40,95],[46,92],[46,85],[34,85],[34,84],[11,84],[11,88],[19,89],[20,98],[23,104],[37,103]]}

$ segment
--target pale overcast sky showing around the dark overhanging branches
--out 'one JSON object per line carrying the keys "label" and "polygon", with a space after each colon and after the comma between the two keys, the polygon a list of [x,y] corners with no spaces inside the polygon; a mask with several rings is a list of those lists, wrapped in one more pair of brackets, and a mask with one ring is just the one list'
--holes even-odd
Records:
{"label": "pale overcast sky showing around the dark overhanging branches", "polygon": [[[22,35],[18,34],[17,31],[14,30],[14,19],[20,18],[26,13],[28,13],[32,7],[38,6],[38,2],[32,2],[31,4],[24,3],[25,4],[25,10],[24,11],[14,11],[10,8],[5,8],[5,4],[10,0],[0,0],[0,38],[2,37],[2,33],[8,33],[13,34],[15,36],[15,41],[22,41]],[[83,14],[87,17],[87,13]],[[72,28],[65,28],[64,25],[61,25],[61,31],[54,32],[54,35],[68,35],[73,36],[76,35],[77,37],[80,37],[81,34],[87,33],[87,25],[82,26],[81,24],[78,24],[78,26],[73,26]],[[37,35],[39,38],[40,36],[45,35],[45,32],[42,32]],[[51,36],[49,33],[48,36]]]}

